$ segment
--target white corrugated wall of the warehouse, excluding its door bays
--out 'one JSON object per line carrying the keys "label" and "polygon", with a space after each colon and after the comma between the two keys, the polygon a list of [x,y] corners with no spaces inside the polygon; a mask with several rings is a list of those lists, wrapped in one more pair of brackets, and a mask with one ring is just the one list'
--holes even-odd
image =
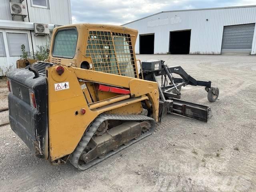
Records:
{"label": "white corrugated wall of the warehouse, excluding its door bays", "polygon": [[[169,51],[170,31],[188,29],[191,29],[190,54],[220,54],[224,26],[255,22],[256,6],[244,6],[162,12],[124,26],[137,29],[139,34],[154,33],[155,54],[166,54]],[[136,53],[139,53],[138,38]],[[251,54],[256,54],[255,31]]]}

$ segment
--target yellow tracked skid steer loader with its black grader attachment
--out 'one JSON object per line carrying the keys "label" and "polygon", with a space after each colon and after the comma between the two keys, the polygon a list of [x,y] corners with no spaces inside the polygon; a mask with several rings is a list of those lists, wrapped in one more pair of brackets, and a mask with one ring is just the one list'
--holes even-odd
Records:
{"label": "yellow tracked skid steer loader with its black grader attachment", "polygon": [[48,60],[7,74],[10,126],[36,156],[85,170],[152,134],[167,113],[207,122],[210,107],[179,100],[180,89],[205,86],[214,102],[218,88],[162,60],[139,62],[138,70],[137,34],[122,26],[60,26]]}

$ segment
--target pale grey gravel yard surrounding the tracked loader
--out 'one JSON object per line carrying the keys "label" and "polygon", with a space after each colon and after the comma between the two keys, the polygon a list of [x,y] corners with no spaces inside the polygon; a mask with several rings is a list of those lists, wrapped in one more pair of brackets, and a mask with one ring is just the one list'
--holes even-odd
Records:
{"label": "pale grey gravel yard surrounding the tracked loader", "polygon": [[[218,101],[189,86],[182,99],[211,106],[213,118],[204,123],[169,114],[155,134],[83,172],[34,157],[10,126],[0,127],[0,191],[256,191],[256,56],[137,57],[211,80],[220,89]],[[1,107],[6,92],[1,88]]]}

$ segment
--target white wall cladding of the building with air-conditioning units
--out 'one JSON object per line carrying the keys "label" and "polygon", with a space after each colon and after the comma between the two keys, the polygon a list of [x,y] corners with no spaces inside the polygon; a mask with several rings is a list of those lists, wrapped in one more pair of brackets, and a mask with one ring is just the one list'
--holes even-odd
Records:
{"label": "white wall cladding of the building with air-conditioning units", "polygon": [[[54,24],[67,25],[72,24],[70,0],[48,0],[48,8],[38,8],[32,6],[32,0],[24,0],[22,4],[28,4],[28,16],[23,21],[19,20],[19,16],[12,20],[10,14],[9,0],[0,0],[0,32],[4,38],[4,48],[6,56],[0,57],[0,76],[2,71],[5,73],[9,68],[16,68],[16,60],[20,56],[10,56],[8,49],[8,40],[6,33],[26,33],[28,35],[29,52],[37,50],[37,46],[46,43],[46,36],[34,36],[34,22],[49,24],[50,32],[54,28]],[[19,2],[19,0],[12,0]],[[28,22],[30,21],[30,22]],[[50,34],[51,36],[51,34]]]}

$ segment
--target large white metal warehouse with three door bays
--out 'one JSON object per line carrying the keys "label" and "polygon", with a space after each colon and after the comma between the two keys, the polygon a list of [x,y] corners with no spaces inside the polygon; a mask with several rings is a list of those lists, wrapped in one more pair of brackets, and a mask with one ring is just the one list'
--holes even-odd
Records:
{"label": "large white metal warehouse with three door bays", "polygon": [[256,54],[256,6],[159,12],[137,29],[137,54]]}

